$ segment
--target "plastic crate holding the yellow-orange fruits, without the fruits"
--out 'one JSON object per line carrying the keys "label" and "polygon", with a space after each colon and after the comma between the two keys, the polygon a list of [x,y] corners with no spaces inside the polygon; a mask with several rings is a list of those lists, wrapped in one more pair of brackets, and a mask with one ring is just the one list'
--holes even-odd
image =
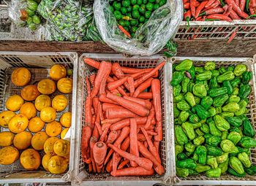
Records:
{"label": "plastic crate holding the yellow-orange fruits, without the fruits", "polygon": [[[76,85],[77,85],[77,66],[78,55],[77,53],[23,53],[23,52],[0,52],[0,112],[6,109],[5,101],[13,94],[19,94],[23,87],[17,87],[12,84],[11,74],[17,67],[26,67],[31,71],[31,81],[29,84],[37,84],[39,80],[48,78],[49,69],[54,64],[62,64],[67,69],[73,70],[73,90],[72,93],[66,94],[68,104],[66,109],[57,113],[56,119],[64,112],[76,113]],[[58,92],[58,91],[56,91]],[[50,95],[51,98],[53,95]],[[37,112],[37,116],[39,112]],[[0,166],[0,184],[1,183],[22,183],[22,182],[67,182],[72,178],[71,171],[73,169],[73,146],[75,139],[72,131],[75,128],[75,117],[72,117],[72,125],[69,128],[68,134],[65,138],[70,139],[70,158],[69,166],[64,174],[50,174],[45,171],[42,165],[39,166],[37,171],[26,171],[20,164],[20,160],[16,160],[11,165]],[[28,129],[26,129],[27,131]],[[9,131],[8,128],[0,128],[0,131]],[[22,150],[20,150],[21,154]],[[39,152],[42,158],[42,152]]]}

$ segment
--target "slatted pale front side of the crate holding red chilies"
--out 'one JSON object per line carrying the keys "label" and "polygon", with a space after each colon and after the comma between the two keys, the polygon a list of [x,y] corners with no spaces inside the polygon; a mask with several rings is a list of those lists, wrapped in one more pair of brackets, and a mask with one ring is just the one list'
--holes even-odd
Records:
{"label": "slatted pale front side of the crate holding red chilies", "polygon": [[236,39],[255,39],[256,20],[227,21],[182,21],[175,39],[229,39],[236,34]]}

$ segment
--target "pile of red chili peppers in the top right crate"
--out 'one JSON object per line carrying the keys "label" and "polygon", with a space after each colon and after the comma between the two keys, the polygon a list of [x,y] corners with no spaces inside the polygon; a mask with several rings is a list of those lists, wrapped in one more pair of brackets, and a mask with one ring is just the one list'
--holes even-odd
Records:
{"label": "pile of red chili peppers in the top right crate", "polygon": [[184,20],[232,20],[256,17],[256,0],[183,0]]}

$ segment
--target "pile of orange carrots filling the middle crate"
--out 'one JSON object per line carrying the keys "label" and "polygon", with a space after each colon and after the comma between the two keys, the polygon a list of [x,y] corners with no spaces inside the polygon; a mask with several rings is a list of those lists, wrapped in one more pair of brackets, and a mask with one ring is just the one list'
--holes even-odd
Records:
{"label": "pile of orange carrots filling the middle crate", "polygon": [[[91,58],[98,69],[86,77],[86,118],[82,131],[83,162],[91,173],[118,176],[162,175],[159,69],[135,69]],[[148,91],[146,91],[148,90]]]}

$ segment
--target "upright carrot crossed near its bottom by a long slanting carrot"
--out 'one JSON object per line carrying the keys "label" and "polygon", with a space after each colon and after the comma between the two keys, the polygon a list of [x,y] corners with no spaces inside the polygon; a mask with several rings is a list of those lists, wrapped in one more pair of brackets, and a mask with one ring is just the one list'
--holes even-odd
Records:
{"label": "upright carrot crossed near its bottom by a long slanting carrot", "polygon": [[[129,152],[132,155],[140,156],[139,149],[138,149],[138,136],[137,136],[137,123],[134,118],[129,119],[129,139],[132,141],[129,143]],[[134,161],[131,161],[131,166],[138,166]]]}

